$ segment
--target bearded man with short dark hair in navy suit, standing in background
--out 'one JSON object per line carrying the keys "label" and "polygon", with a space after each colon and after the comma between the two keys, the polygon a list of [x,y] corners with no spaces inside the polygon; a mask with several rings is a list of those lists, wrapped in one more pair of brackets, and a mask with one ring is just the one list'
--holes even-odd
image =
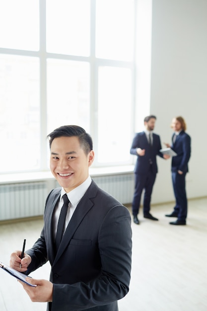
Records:
{"label": "bearded man with short dark hair in navy suit, standing in background", "polygon": [[132,202],[132,213],[134,223],[139,224],[138,211],[142,190],[144,189],[143,198],[143,214],[144,218],[158,220],[153,217],[150,211],[150,200],[152,188],[157,174],[156,156],[169,158],[167,155],[162,155],[160,138],[157,134],[152,133],[155,125],[156,117],[153,115],[144,118],[145,131],[136,134],[130,153],[137,156],[135,165],[135,193]]}

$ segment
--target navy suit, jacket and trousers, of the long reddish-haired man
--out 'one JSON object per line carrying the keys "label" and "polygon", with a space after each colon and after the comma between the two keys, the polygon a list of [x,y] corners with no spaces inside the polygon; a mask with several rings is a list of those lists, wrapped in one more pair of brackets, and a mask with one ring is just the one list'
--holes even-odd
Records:
{"label": "navy suit, jacket and trousers, of the long reddish-haired man", "polygon": [[[172,141],[174,140],[174,135]],[[172,143],[171,148],[177,154],[177,156],[172,157],[171,165],[173,190],[176,199],[174,211],[178,214],[178,221],[186,221],[188,206],[185,177],[188,172],[188,161],[191,156],[190,136],[184,131],[181,131],[176,136],[175,143]],[[183,174],[179,174],[178,170],[182,171]]]}

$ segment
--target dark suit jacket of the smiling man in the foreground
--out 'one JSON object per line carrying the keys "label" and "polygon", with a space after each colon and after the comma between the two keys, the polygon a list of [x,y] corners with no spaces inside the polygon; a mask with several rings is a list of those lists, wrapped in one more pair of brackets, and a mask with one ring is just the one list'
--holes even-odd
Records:
{"label": "dark suit jacket of the smiling man in the foreground", "polygon": [[55,255],[52,216],[60,193],[54,189],[47,198],[41,237],[26,251],[32,257],[27,274],[50,261],[54,292],[48,310],[118,311],[117,300],[130,283],[130,213],[92,180]]}

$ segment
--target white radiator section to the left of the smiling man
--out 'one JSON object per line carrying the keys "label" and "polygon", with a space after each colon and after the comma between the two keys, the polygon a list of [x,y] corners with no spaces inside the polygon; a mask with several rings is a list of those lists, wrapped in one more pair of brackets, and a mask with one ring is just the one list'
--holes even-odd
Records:
{"label": "white radiator section to the left of the smiling man", "polygon": [[0,220],[43,215],[47,182],[0,185]]}

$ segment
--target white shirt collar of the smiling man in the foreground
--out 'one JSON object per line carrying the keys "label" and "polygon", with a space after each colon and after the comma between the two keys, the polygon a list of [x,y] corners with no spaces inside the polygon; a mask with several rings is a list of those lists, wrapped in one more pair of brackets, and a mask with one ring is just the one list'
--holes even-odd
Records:
{"label": "white shirt collar of the smiling man in the foreground", "polygon": [[[71,190],[69,193],[67,193],[67,196],[69,198],[69,201],[72,205],[77,206],[85,192],[87,191],[88,187],[91,184],[91,177],[88,176],[88,178],[83,181],[78,187]],[[62,187],[61,189],[61,199],[63,198],[63,195],[66,193],[65,189]]]}

